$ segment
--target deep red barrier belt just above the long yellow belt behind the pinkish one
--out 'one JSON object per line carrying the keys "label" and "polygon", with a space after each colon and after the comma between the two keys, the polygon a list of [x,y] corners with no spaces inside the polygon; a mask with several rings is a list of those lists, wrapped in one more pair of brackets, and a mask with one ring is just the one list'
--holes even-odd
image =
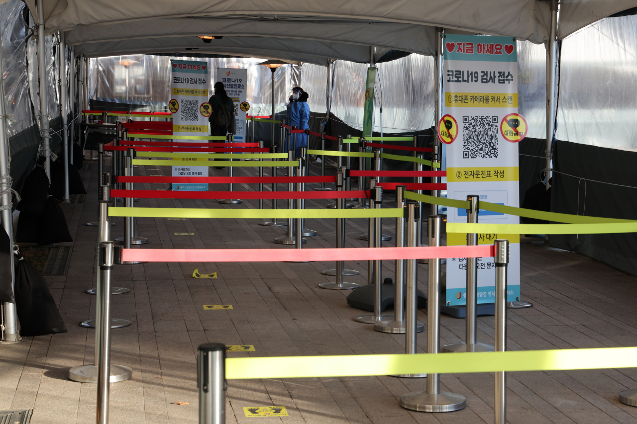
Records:
{"label": "deep red barrier belt just above the long yellow belt behind the pinkish one", "polygon": [[[231,181],[236,182],[236,181]],[[228,192],[194,192],[178,190],[111,190],[113,197],[140,199],[227,199]],[[369,190],[348,192],[241,192],[241,199],[369,199]]]}

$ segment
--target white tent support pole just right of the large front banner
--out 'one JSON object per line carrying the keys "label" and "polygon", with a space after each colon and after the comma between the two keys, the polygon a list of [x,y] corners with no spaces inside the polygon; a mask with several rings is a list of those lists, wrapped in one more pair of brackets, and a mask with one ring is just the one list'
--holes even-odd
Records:
{"label": "white tent support pole just right of the large front banner", "polygon": [[555,137],[555,82],[557,73],[557,0],[551,0],[551,38],[548,40],[548,66],[547,66],[547,190],[550,187],[548,180],[551,178],[553,160],[553,139]]}

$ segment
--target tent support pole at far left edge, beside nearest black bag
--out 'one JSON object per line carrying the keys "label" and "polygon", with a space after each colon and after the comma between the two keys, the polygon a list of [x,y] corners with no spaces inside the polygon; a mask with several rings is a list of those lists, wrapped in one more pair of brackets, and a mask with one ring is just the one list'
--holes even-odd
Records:
{"label": "tent support pole at far left edge, beside nearest black bag", "polygon": [[[13,251],[13,216],[11,214],[11,176],[9,174],[9,138],[6,132],[6,108],[4,107],[4,69],[2,57],[2,39],[0,38],[0,218],[6,234],[9,236],[11,251]],[[13,255],[11,262],[11,290],[15,281],[15,268],[13,266]],[[0,338],[4,343],[17,343],[18,339],[18,317],[15,303],[4,302],[4,334]]]}

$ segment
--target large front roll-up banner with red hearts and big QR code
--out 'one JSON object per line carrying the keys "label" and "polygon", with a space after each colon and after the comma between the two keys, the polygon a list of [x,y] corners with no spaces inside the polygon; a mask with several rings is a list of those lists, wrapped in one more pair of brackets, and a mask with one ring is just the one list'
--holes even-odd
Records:
{"label": "large front roll-up banner with red hearts and big QR code", "polygon": [[[460,36],[444,39],[445,114],[439,138],[447,144],[447,197],[519,206],[517,43],[515,38]],[[513,115],[512,115],[513,114]],[[507,124],[517,122],[517,127]],[[517,130],[517,131],[516,131]],[[513,136],[512,134],[516,134]],[[519,223],[519,217],[480,209],[481,223]],[[447,222],[467,222],[466,209],[449,208]],[[520,236],[478,234],[478,244],[510,241],[507,301],[520,297]],[[466,244],[466,234],[447,234],[447,245]],[[495,302],[493,258],[478,258],[478,303]],[[466,304],[466,259],[447,260],[447,306]]]}

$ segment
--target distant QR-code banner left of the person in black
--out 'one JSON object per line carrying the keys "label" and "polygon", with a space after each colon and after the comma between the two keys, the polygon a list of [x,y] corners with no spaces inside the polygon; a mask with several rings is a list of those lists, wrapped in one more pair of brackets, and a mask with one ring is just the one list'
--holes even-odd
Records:
{"label": "distant QR-code banner left of the person in black", "polygon": [[[168,108],[173,113],[173,136],[209,136],[208,117],[212,113],[208,103],[207,62],[192,60],[171,60],[170,95]],[[197,139],[175,139],[175,142],[190,141],[201,143]],[[197,148],[193,148],[197,152]],[[208,161],[175,157],[173,160]],[[207,166],[173,166],[173,176],[208,176]],[[208,184],[173,183],[173,190],[206,192]]]}

